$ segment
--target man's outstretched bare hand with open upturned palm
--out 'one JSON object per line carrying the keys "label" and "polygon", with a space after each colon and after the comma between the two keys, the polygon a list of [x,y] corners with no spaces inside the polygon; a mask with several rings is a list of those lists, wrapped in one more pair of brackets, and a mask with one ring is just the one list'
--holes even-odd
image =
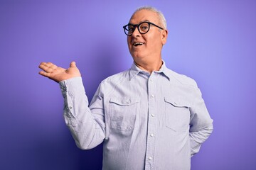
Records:
{"label": "man's outstretched bare hand with open upturned palm", "polygon": [[48,77],[49,79],[52,79],[56,82],[60,82],[73,77],[81,77],[81,74],[78,67],[76,67],[75,62],[71,62],[68,69],[58,67],[51,62],[41,62],[39,68],[43,69],[43,71],[39,72],[39,74],[44,77]]}

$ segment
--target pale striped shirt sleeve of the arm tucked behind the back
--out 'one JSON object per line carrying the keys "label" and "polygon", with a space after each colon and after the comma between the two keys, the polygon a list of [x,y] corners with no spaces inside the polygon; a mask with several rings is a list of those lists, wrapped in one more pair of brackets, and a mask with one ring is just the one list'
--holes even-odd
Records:
{"label": "pale striped shirt sleeve of the arm tucked behind the back", "polygon": [[213,120],[210,118],[201,91],[196,88],[191,109],[191,123],[189,137],[191,143],[191,157],[199,152],[203,142],[213,132]]}

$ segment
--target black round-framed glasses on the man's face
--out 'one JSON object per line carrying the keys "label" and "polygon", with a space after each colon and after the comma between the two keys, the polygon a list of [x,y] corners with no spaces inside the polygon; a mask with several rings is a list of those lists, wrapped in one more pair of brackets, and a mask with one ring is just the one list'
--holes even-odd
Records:
{"label": "black round-framed glasses on the man's face", "polygon": [[[145,34],[147,32],[149,32],[149,28],[150,28],[150,25],[152,26],[156,26],[156,24],[154,23],[151,23],[151,22],[142,22],[142,23],[139,23],[139,24],[131,24],[131,23],[128,23],[127,25],[123,26],[124,28],[124,33],[128,36],[131,36],[132,33],[134,32],[134,30],[136,28],[138,28],[139,30],[139,33],[141,34]],[[159,26],[156,26],[157,28],[160,28],[161,30],[164,30],[164,28],[161,28]]]}

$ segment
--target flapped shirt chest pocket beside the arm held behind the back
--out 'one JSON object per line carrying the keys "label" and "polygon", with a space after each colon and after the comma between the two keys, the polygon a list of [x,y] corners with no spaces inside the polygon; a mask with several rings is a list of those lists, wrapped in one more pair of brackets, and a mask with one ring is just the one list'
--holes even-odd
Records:
{"label": "flapped shirt chest pocket beside the arm held behind the back", "polygon": [[186,101],[175,101],[174,98],[164,98],[166,127],[175,132],[186,132],[190,123],[190,105]]}

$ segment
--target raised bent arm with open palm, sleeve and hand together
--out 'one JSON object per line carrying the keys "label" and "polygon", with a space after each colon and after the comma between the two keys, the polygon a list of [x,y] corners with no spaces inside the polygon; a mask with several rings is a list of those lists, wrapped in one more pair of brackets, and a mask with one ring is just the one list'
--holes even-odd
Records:
{"label": "raised bent arm with open palm, sleeve and hand together", "polygon": [[103,101],[102,97],[97,95],[98,91],[92,99],[92,103],[97,108],[90,109],[81,74],[75,62],[71,62],[68,69],[57,67],[50,62],[42,62],[39,68],[43,69],[39,74],[60,84],[65,103],[65,123],[76,145],[81,149],[90,149],[99,145],[105,138],[105,123]]}

